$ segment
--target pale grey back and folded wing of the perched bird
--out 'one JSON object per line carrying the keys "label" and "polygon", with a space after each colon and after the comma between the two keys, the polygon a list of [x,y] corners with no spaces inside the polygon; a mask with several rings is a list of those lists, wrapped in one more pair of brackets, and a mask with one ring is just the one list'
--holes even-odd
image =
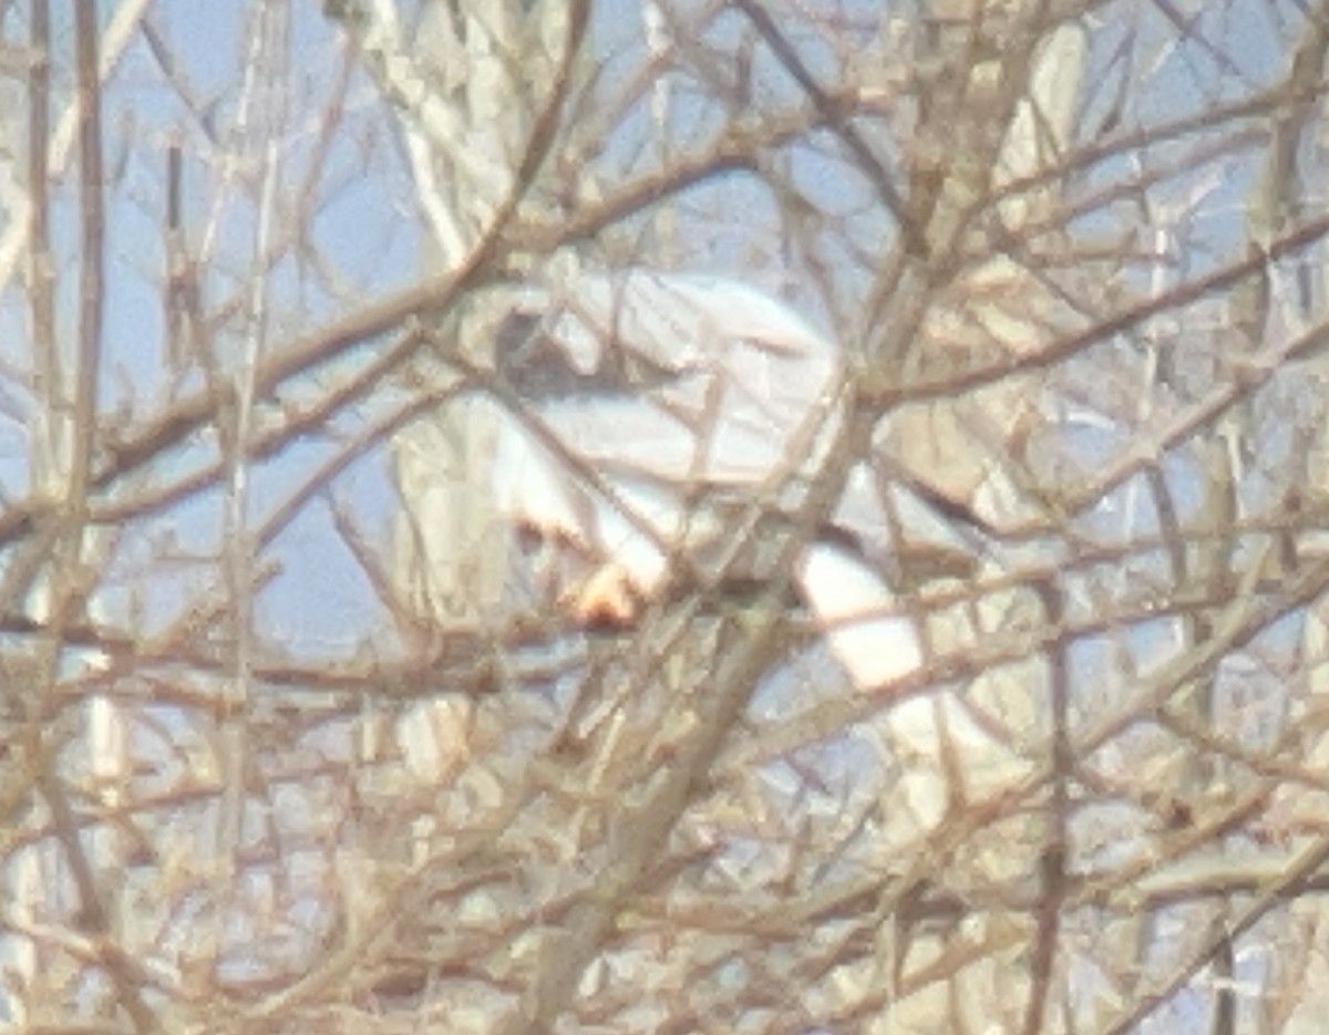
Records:
{"label": "pale grey back and folded wing of the perched bird", "polygon": [[575,408],[542,417],[597,464],[754,485],[791,461],[807,469],[825,437],[805,436],[801,450],[795,441],[831,411],[840,352],[776,299],[718,278],[633,270],[582,274],[549,303],[548,343],[586,391],[571,396]]}

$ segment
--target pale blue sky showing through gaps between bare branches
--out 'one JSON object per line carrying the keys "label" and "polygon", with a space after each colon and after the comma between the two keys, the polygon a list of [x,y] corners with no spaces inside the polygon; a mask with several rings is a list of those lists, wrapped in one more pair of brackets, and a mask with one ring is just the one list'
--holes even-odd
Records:
{"label": "pale blue sky showing through gaps between bare branches", "polygon": [[[128,3],[102,4],[101,9],[109,23],[117,12],[130,7]],[[249,52],[249,41],[262,7],[163,0],[153,5],[150,15],[162,49],[154,52],[137,37],[118,58],[106,93],[108,165],[114,177],[108,236],[112,276],[105,323],[106,367],[101,384],[106,412],[125,409],[144,416],[199,387],[197,376],[178,384],[167,373],[169,343],[158,284],[165,264],[161,183],[165,150],[171,140],[182,140],[189,155],[185,222],[191,244],[209,251],[205,279],[209,300],[214,304],[246,300],[243,292],[260,231],[253,205],[260,166],[253,159],[267,154],[268,134],[262,126],[246,125],[254,116],[245,109],[237,92],[237,69],[250,68],[256,73],[260,66]],[[397,140],[368,82],[360,76],[352,76],[348,84],[343,80],[342,43],[322,19],[319,7],[315,3],[288,5],[290,74],[266,94],[274,109],[284,108],[288,113],[275,203],[280,218],[272,234],[275,240],[291,247],[270,274],[271,311],[262,347],[272,351],[303,336],[311,327],[336,319],[348,304],[409,284],[420,263],[419,223],[405,201],[412,187]],[[823,12],[839,9],[848,16],[877,8],[867,0],[804,7]],[[898,7],[905,11],[908,5]],[[11,36],[25,31],[21,8],[8,8],[5,31]],[[64,5],[54,8],[64,11]],[[1114,5],[1112,19],[1095,27],[1086,124],[1094,124],[1111,108],[1122,76],[1142,86],[1135,94],[1136,108],[1130,113],[1142,121],[1203,112],[1272,82],[1281,74],[1285,58],[1278,40],[1292,35],[1277,19],[1290,8],[1290,4],[1213,4],[1201,15],[1199,5],[1191,5],[1213,44],[1215,49],[1207,53],[1200,45],[1166,45],[1175,27],[1167,21],[1163,5],[1144,0]],[[591,39],[606,58],[605,89],[611,89],[615,74],[627,81],[643,60],[646,40],[639,5],[633,0],[613,0],[595,4],[595,12]],[[712,41],[719,47],[736,47],[739,24],[736,16],[720,19]],[[57,24],[56,32],[58,39],[65,39],[62,33],[68,33],[68,25]],[[1136,44],[1134,53],[1147,56],[1152,64],[1127,65],[1122,60],[1118,44],[1132,41]],[[801,43],[815,70],[829,68],[831,56],[824,48],[812,40]],[[163,56],[177,62],[171,73],[174,90],[163,85]],[[762,96],[768,100],[789,96],[787,80],[763,69],[760,61],[759,57],[756,72]],[[57,66],[57,90],[68,100],[68,72],[62,65]],[[340,96],[344,126],[332,140],[323,134],[322,124],[330,96]],[[670,126],[680,141],[714,128],[714,109],[699,104],[684,81],[672,84]],[[623,170],[634,162],[649,161],[649,149],[642,145],[650,142],[653,125],[646,108],[639,106],[607,142],[603,167]],[[250,163],[237,165],[227,159],[231,154],[241,154]],[[1167,143],[1160,143],[1152,154],[1158,161],[1168,155]],[[804,151],[792,155],[791,162],[792,179],[800,185],[804,199],[823,211],[845,217],[864,203],[863,182],[823,157]],[[1104,162],[1096,175],[1104,182],[1119,179],[1127,171],[1127,158]],[[1177,234],[1187,226],[1197,231],[1185,252],[1192,263],[1189,268],[1160,262],[1160,267],[1167,267],[1164,279],[1201,275],[1231,258],[1244,233],[1241,203],[1257,174],[1257,169],[1241,162],[1217,162],[1203,177],[1180,175],[1151,193],[1154,211],[1174,221]],[[307,222],[303,206],[310,194],[320,199],[308,233],[319,247],[322,264],[306,260],[308,256],[300,254],[296,238]],[[56,264],[61,271],[72,270],[77,250],[74,203],[73,179],[66,177],[54,210]],[[835,326],[831,307],[811,291],[800,294],[792,278],[784,275],[784,256],[780,248],[772,247],[767,233],[776,221],[775,206],[768,198],[754,194],[748,185],[735,178],[690,198],[683,214],[688,230],[704,227],[707,244],[690,248],[684,243],[678,256],[680,262],[692,268],[751,276],[771,290],[789,290],[809,319]],[[1083,227],[1086,233],[1102,229],[1092,221]],[[884,231],[878,225],[855,230],[863,235],[860,244],[865,248],[870,248],[872,238]],[[837,246],[824,247],[824,256],[835,260]],[[1159,247],[1164,259],[1175,258],[1167,238],[1160,238]],[[61,288],[64,314],[73,311],[72,283],[69,278]],[[853,284],[855,278],[848,278],[848,283]],[[20,368],[25,364],[31,343],[24,328],[19,295],[11,288],[0,295],[0,363]],[[66,337],[69,329],[66,319],[62,323]],[[243,335],[223,340],[225,361],[233,369],[243,363],[246,344]],[[340,369],[367,361],[373,348],[369,343]],[[371,412],[391,401],[392,393],[384,393],[371,407],[334,421],[334,434],[310,436],[280,456],[255,465],[254,521],[262,521],[287,498],[292,486],[335,454],[338,445],[332,440],[336,436],[354,436]],[[21,395],[12,389],[0,396],[0,486],[9,498],[21,497],[31,489],[24,405]],[[1116,445],[1114,429],[1078,433],[1084,436],[1083,449],[1088,454]],[[205,456],[210,456],[207,445],[191,442],[170,458],[159,476],[179,476]],[[1189,477],[1185,462],[1174,461],[1171,472],[1184,498]],[[1124,488],[1119,498],[1107,501],[1091,521],[1107,525],[1123,514],[1135,522],[1148,521],[1146,510],[1132,510],[1143,504],[1138,492],[1131,493],[1131,486]],[[397,504],[383,450],[368,453],[339,478],[335,496],[351,506],[369,541],[387,541]],[[128,530],[108,577],[114,589],[100,602],[105,614],[134,614],[148,628],[171,620],[183,601],[193,599],[215,579],[215,565],[207,554],[215,550],[221,527],[221,494],[210,492]],[[177,563],[165,573],[159,566],[163,553],[177,557]],[[267,558],[275,561],[278,574],[258,598],[256,627],[262,638],[306,656],[346,656],[367,632],[384,623],[385,614],[373,603],[369,582],[339,543],[326,501],[306,508],[275,539],[271,551],[264,554]],[[1158,635],[1159,631],[1152,630],[1146,638]],[[1280,635],[1292,639],[1286,628]],[[1095,650],[1100,647],[1084,648],[1087,656],[1082,664],[1086,668],[1098,663]],[[779,696],[780,687],[776,687],[769,700],[777,703]]]}

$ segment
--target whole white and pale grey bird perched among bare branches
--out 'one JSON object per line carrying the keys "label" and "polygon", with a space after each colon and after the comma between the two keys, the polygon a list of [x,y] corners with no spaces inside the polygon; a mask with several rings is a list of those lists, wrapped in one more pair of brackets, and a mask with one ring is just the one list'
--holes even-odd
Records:
{"label": "whole white and pale grey bird perched among bare branches", "polygon": [[[509,404],[496,512],[574,562],[556,595],[582,627],[630,627],[680,570],[726,549],[769,578],[780,550],[759,533],[792,534],[844,420],[845,372],[832,337],[732,278],[629,267],[532,287],[494,332],[493,383]],[[922,666],[914,619],[855,530],[873,485],[865,465],[849,472],[792,570],[864,688]],[[754,542],[731,542],[740,533]]]}

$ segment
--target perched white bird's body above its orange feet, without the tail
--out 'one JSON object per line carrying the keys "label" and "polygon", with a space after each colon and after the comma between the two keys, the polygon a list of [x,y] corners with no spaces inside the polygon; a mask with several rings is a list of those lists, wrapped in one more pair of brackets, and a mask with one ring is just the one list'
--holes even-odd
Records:
{"label": "perched white bird's body above its orange feet, without the tail", "polygon": [[583,274],[498,348],[525,396],[502,432],[501,510],[594,546],[646,595],[675,549],[722,534],[707,498],[789,506],[833,434],[835,343],[734,282]]}

